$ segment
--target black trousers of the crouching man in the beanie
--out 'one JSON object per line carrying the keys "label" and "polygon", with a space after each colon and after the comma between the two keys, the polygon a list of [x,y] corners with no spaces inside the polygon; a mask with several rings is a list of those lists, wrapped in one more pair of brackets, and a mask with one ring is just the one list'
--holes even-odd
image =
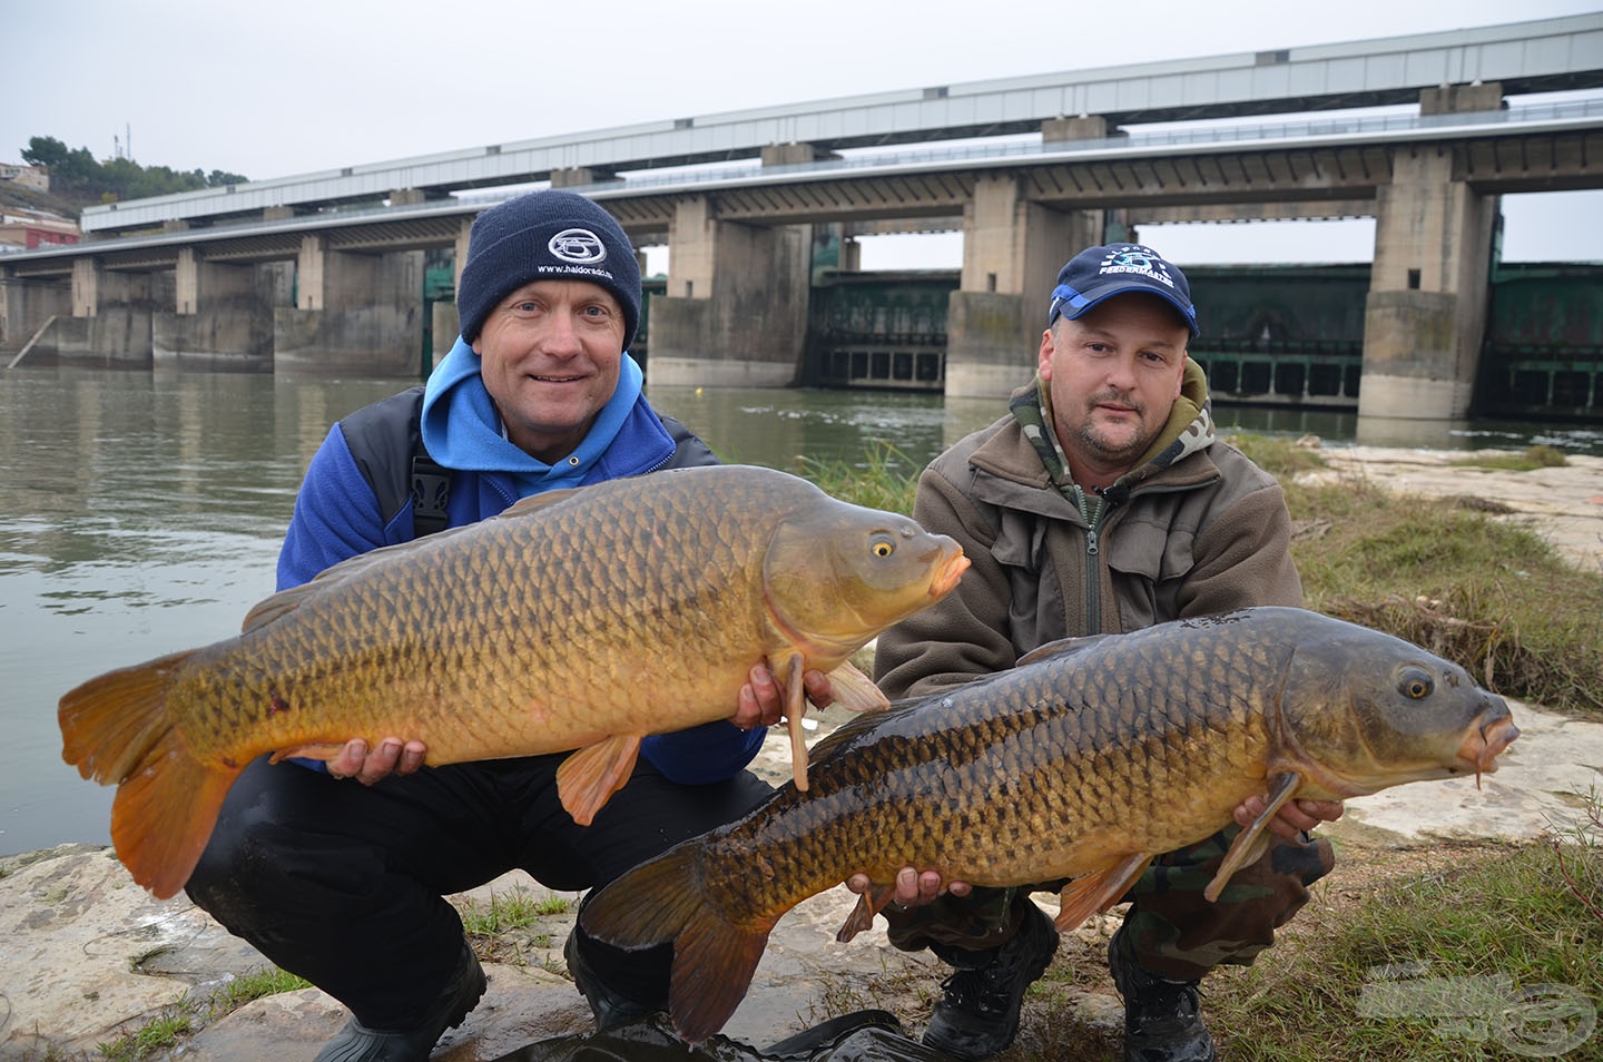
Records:
{"label": "black trousers of the crouching man in the beanie", "polygon": [[[556,797],[561,762],[452,764],[362,786],[263,757],[229,791],[186,890],[369,1028],[409,1028],[462,955],[462,919],[442,895],[515,868],[556,890],[604,886],[771,792],[749,772],[681,786],[641,759],[579,826]],[[672,946],[628,953],[574,932],[596,980],[667,1001]]]}

